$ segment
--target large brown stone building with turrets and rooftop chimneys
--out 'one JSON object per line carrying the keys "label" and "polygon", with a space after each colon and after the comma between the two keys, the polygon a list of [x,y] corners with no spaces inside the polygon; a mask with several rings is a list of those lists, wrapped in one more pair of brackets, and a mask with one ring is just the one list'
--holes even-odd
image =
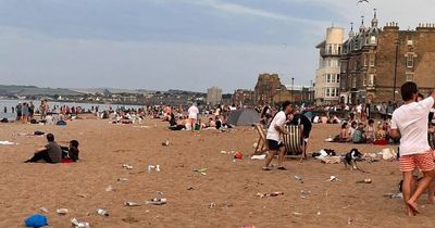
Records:
{"label": "large brown stone building with turrets and rooftop chimneys", "polygon": [[376,12],[371,26],[362,21],[351,28],[343,46],[340,101],[382,103],[401,100],[399,88],[415,81],[423,94],[435,87],[435,24],[400,30],[397,23],[378,28]]}

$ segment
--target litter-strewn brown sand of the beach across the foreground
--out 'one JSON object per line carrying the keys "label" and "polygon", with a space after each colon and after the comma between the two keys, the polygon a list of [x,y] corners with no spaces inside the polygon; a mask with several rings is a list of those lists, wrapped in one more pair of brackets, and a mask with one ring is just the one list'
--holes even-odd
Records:
{"label": "litter-strewn brown sand of the beach across the foreground", "polygon": [[[286,172],[263,172],[263,161],[244,156],[233,162],[231,155],[221,154],[233,150],[245,155],[252,153],[257,132],[250,127],[194,134],[169,131],[166,123],[160,121],[146,121],[142,125],[149,127],[112,125],[92,117],[69,122],[65,127],[0,124],[0,140],[20,143],[0,145],[0,227],[23,227],[23,220],[34,213],[47,215],[49,227],[60,228],[71,227],[71,218],[104,228],[434,226],[434,205],[421,207],[421,215],[410,218],[403,214],[401,200],[383,197],[398,191],[401,175],[397,162],[360,163],[370,174],[312,159],[303,163],[287,161]],[[77,139],[82,161],[55,165],[23,163],[46,139],[14,134],[34,130],[53,132],[61,144]],[[353,148],[323,141],[338,131],[338,125],[314,125],[309,152],[323,148],[347,152]],[[162,147],[165,139],[170,147]],[[356,148],[364,153],[383,149]],[[123,164],[133,169],[123,168]],[[148,173],[150,164],[160,165],[161,172]],[[208,168],[208,175],[194,173],[196,168]],[[297,182],[294,175],[301,176],[304,182]],[[332,175],[339,181],[326,182]],[[119,178],[128,181],[120,182]],[[356,183],[364,178],[373,182]],[[108,186],[114,190],[107,192]],[[302,199],[301,190],[311,193]],[[124,201],[144,203],[157,197],[158,191],[164,193],[166,205],[123,205]],[[256,195],[274,191],[284,195]],[[420,206],[425,200],[421,199]],[[40,212],[41,206],[49,212]],[[69,208],[67,215],[55,213],[62,207]],[[107,210],[110,216],[97,215],[97,208]]]}

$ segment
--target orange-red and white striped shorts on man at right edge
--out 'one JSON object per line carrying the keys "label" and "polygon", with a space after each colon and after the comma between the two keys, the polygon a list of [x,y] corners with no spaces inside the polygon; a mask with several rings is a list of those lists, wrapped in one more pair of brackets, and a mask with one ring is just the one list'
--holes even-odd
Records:
{"label": "orange-red and white striped shorts on man at right edge", "polygon": [[402,155],[399,159],[400,172],[412,172],[419,168],[422,172],[434,170],[434,155],[431,152]]}

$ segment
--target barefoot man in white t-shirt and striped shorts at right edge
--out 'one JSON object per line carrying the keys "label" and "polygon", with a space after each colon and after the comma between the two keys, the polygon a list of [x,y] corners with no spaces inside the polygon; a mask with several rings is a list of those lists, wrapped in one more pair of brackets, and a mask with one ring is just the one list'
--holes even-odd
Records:
{"label": "barefoot man in white t-shirt and striped shorts at right edge", "polygon": [[[415,102],[418,87],[412,81],[403,84],[400,92],[405,104],[393,113],[390,136],[393,138],[400,137],[399,163],[403,176],[403,201],[407,214],[415,216],[419,214],[417,202],[435,177],[433,153],[426,136],[428,113],[434,106],[435,92],[428,98]],[[423,178],[413,190],[413,170],[415,168],[423,173]],[[430,197],[434,198],[434,195]]]}

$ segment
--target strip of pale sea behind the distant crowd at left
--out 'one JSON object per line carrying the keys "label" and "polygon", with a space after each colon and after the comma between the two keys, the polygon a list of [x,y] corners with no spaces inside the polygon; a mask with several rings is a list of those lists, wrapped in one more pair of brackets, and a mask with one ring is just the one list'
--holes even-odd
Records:
{"label": "strip of pale sea behind the distant crowd at left", "polygon": [[[12,107],[15,109],[16,104],[18,102],[24,103],[24,102],[34,102],[35,106],[38,107],[40,105],[40,101],[33,101],[33,100],[0,100],[0,119],[2,118],[8,118],[10,121],[16,118],[16,113],[12,113]],[[83,110],[88,111],[91,110],[91,107],[98,106],[98,111],[104,111],[109,110],[112,107],[113,110],[116,110],[119,107],[124,107],[124,109],[140,109],[142,106],[140,105],[124,105],[124,104],[97,104],[97,103],[74,103],[74,102],[61,102],[61,101],[49,101],[48,104],[50,105],[50,109],[53,106],[63,106],[67,105],[70,107],[72,106],[80,106]],[[4,107],[7,107],[7,112],[4,112]]]}

